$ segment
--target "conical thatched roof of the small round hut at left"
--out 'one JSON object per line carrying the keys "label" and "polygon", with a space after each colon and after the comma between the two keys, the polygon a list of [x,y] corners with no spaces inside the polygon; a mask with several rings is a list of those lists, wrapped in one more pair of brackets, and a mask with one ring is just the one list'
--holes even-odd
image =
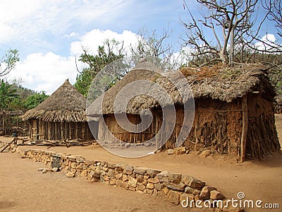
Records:
{"label": "conical thatched roof of the small round hut at left", "polygon": [[23,114],[23,120],[42,119],[44,122],[87,122],[86,99],[68,79],[49,98]]}

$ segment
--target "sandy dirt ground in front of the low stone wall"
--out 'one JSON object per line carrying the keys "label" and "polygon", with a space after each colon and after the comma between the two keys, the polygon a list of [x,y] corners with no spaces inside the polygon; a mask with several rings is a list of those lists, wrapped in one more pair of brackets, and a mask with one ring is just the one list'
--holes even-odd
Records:
{"label": "sandy dirt ground in front of the low stone wall", "polygon": [[90,183],[12,153],[0,154],[0,211],[181,211],[165,196]]}

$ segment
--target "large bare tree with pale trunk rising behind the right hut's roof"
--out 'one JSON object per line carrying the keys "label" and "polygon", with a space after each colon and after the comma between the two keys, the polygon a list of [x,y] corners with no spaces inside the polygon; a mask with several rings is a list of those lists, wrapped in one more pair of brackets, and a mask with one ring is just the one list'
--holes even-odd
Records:
{"label": "large bare tree with pale trunk rising behind the right hut's roof", "polygon": [[[238,40],[254,26],[255,20],[252,16],[258,0],[197,0],[197,2],[202,6],[201,20],[196,20],[186,1],[183,1],[184,9],[188,10],[192,19],[190,23],[181,20],[187,29],[186,45],[195,47],[195,57],[209,54],[212,55],[212,60],[232,64]],[[207,38],[211,35],[215,42]]]}

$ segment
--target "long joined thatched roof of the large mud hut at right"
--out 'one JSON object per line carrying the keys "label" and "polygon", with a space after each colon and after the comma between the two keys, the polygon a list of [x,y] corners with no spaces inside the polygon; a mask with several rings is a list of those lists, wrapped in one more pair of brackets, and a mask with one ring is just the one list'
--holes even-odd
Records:
{"label": "long joined thatched roof of the large mud hut at right", "polygon": [[[185,100],[192,97],[196,100],[200,98],[211,98],[223,102],[232,102],[236,98],[242,98],[252,91],[262,93],[265,98],[270,98],[271,100],[275,95],[274,88],[271,86],[269,78],[266,75],[267,69],[259,64],[252,64],[243,68],[228,68],[224,66],[204,67],[201,69],[183,68],[167,73],[154,73],[147,71],[146,67],[147,64],[142,69],[142,64],[138,64],[136,66],[137,69],[130,71],[115,86],[107,90],[104,95],[92,102],[90,107],[87,108],[87,114],[96,116],[99,114],[122,112],[118,107],[114,111],[116,95],[124,86],[140,80],[157,83],[166,90],[166,93],[170,95],[174,104],[180,105],[183,104],[183,98],[185,102]],[[183,75],[187,79],[190,89],[187,88],[187,83],[183,83],[183,77],[181,77]],[[174,85],[171,81],[173,81]],[[181,93],[185,93],[186,96],[181,97],[178,90]],[[135,92],[135,90],[127,90],[126,92]],[[124,98],[129,95],[126,92],[124,93]],[[157,86],[149,86],[147,93],[137,95],[128,102],[126,112],[128,114],[140,114],[144,109],[159,106],[159,102],[150,96],[152,93],[160,94],[159,100],[164,106],[171,105],[171,102],[161,95]]]}

